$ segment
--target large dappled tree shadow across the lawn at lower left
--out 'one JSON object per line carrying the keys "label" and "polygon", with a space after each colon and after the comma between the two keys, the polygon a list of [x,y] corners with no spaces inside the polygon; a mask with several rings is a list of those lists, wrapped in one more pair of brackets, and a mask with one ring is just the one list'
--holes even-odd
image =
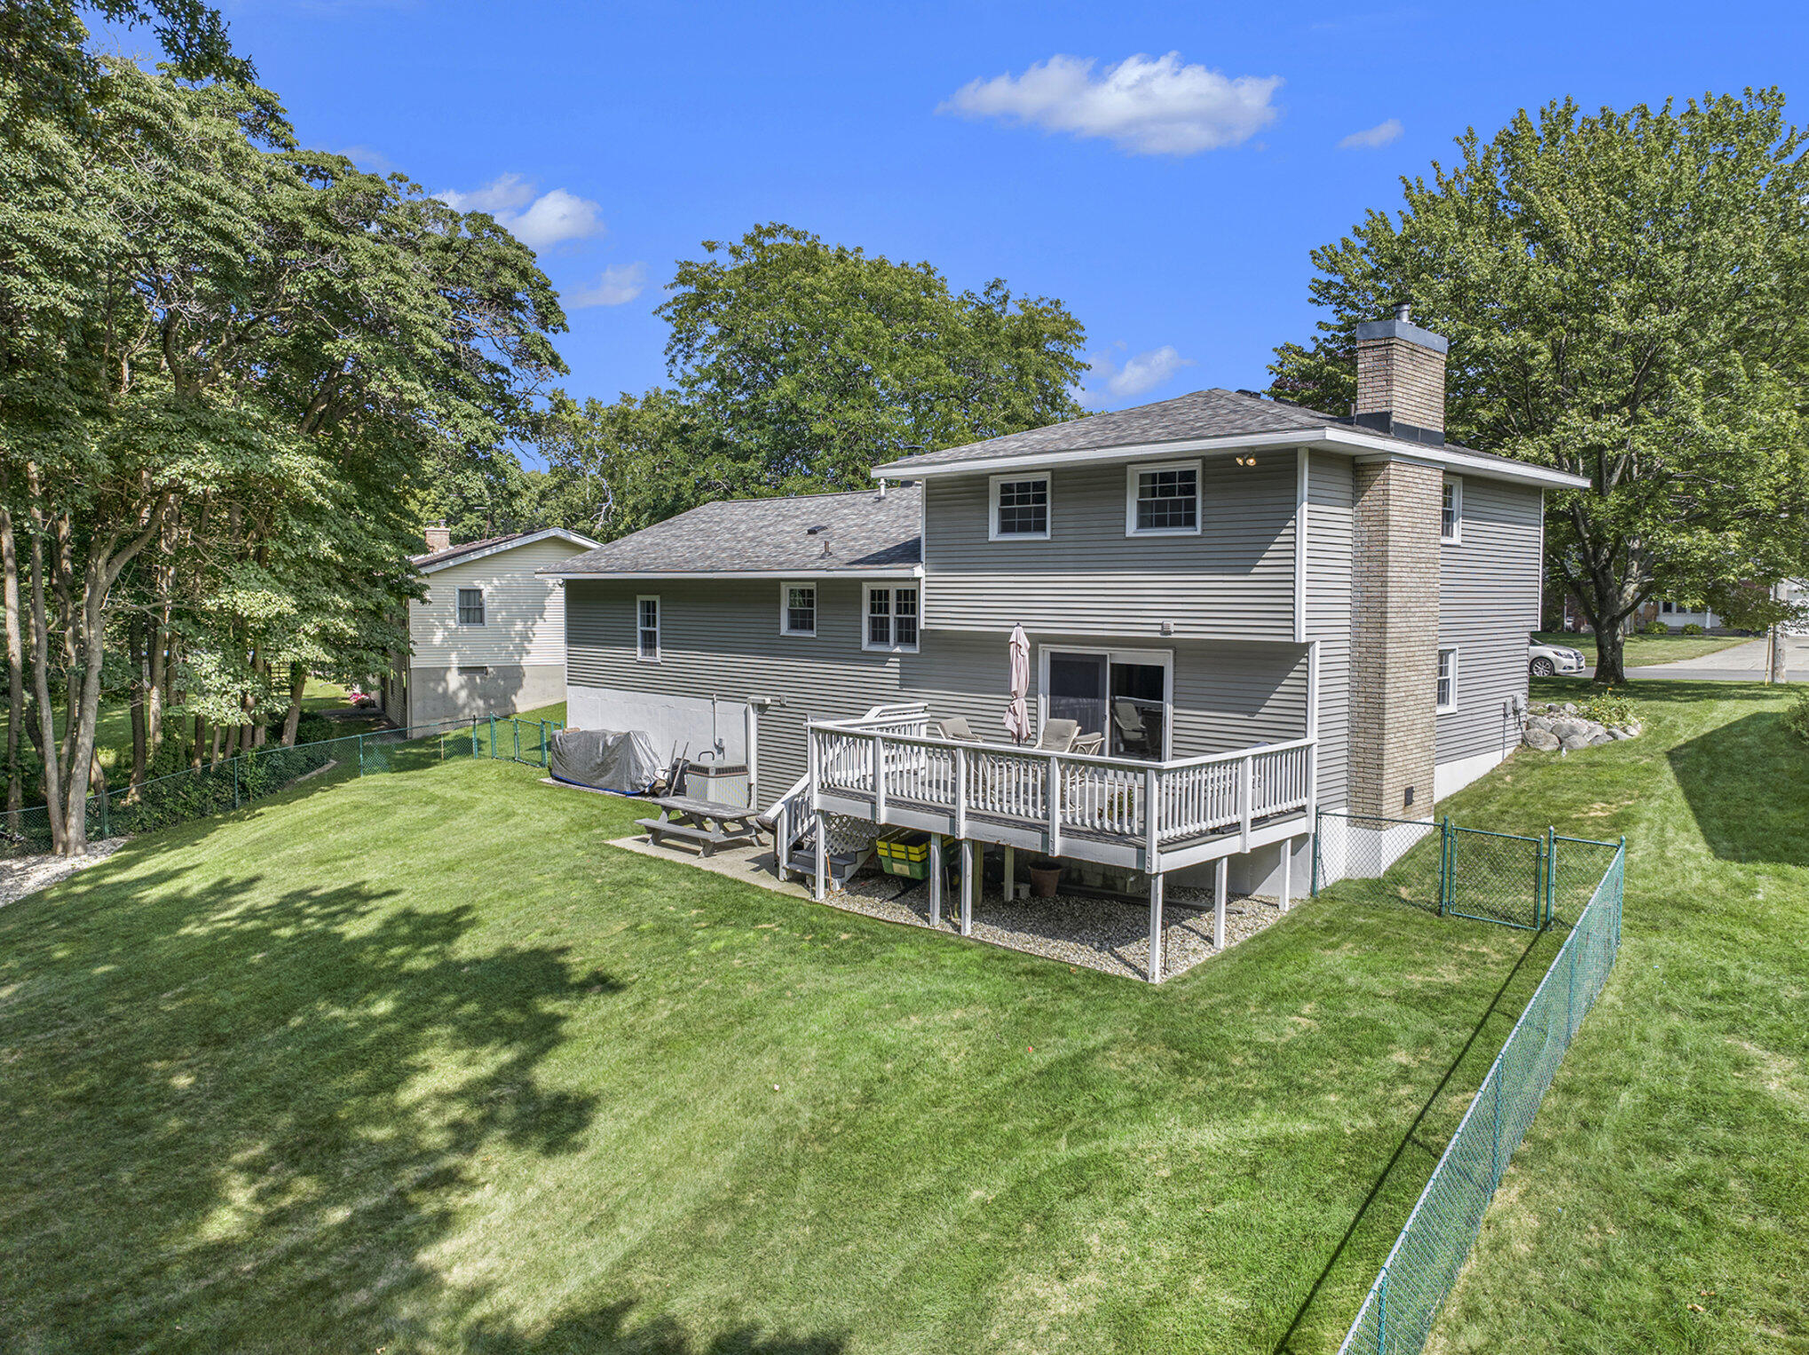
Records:
{"label": "large dappled tree shadow across the lawn at lower left", "polygon": [[597,1098],[539,1064],[620,984],[394,895],[166,870],[0,914],[0,1346],[459,1330],[483,1292],[423,1256],[487,1154],[577,1145]]}

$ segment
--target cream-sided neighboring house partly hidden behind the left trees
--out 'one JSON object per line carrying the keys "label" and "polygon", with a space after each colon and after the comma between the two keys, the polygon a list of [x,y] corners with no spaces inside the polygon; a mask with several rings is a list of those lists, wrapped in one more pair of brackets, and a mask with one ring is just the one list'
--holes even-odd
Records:
{"label": "cream-sided neighboring house partly hidden behind the left trees", "polygon": [[539,570],[597,543],[564,528],[450,543],[427,528],[412,564],[427,597],[409,602],[409,655],[396,657],[384,709],[400,725],[525,711],[564,698],[564,593]]}

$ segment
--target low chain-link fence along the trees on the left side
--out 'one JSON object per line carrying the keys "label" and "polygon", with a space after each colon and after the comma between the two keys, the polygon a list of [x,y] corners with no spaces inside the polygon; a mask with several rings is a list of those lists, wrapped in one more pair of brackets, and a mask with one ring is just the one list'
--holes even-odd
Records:
{"label": "low chain-link fence along the trees on the left side", "polygon": [[[186,771],[154,776],[137,787],[109,787],[89,796],[89,839],[127,838],[210,814],[242,809],[295,785],[304,776],[333,771],[373,776],[412,771],[449,758],[501,758],[528,767],[552,762],[557,720],[479,716],[443,720],[409,729],[373,729],[362,734],[324,738],[241,753]],[[51,810],[45,805],[0,812],[0,856],[36,856],[51,850]]]}

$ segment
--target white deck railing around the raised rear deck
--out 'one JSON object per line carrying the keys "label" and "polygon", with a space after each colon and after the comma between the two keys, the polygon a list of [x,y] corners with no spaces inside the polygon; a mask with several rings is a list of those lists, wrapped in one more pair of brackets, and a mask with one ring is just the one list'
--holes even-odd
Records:
{"label": "white deck railing around the raised rear deck", "polygon": [[1252,823],[1313,803],[1312,738],[1138,762],[933,738],[928,725],[921,707],[812,724],[812,785],[870,803],[877,823],[888,805],[941,810],[955,836],[982,820],[1042,830],[1051,854],[1085,836],[1136,843],[1151,858],[1219,834],[1248,839]]}

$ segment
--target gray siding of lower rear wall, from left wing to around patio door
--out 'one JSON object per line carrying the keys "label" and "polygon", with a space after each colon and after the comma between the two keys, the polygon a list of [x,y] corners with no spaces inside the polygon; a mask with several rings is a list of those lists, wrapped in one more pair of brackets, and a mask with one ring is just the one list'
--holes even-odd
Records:
{"label": "gray siding of lower rear wall, from left wing to around patio door", "polygon": [[[657,664],[635,657],[640,593],[660,597]],[[1098,646],[1102,639],[1026,630],[1033,646]],[[814,637],[778,633],[778,583],[566,583],[566,680],[573,687],[785,702],[760,716],[762,805],[803,776],[807,718],[848,718],[883,702],[923,700],[932,716],[961,715],[982,738],[1002,740],[1008,633],[1009,624],[993,631],[926,630],[919,653],[863,651],[861,584],[852,579],[818,583]],[[1122,648],[1174,651],[1174,756],[1279,744],[1306,733],[1304,646],[1111,639]],[[1037,668],[1033,662],[1033,709]]]}

